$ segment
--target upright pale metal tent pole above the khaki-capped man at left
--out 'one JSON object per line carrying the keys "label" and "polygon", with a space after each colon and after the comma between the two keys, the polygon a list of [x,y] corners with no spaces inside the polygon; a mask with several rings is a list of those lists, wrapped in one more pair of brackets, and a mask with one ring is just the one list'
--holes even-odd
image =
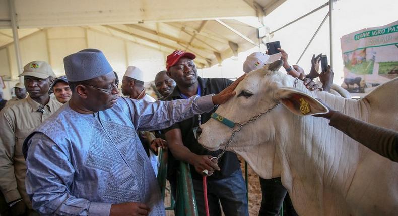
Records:
{"label": "upright pale metal tent pole above the khaki-capped man at left", "polygon": [[[21,52],[19,49],[19,37],[18,37],[18,26],[17,26],[17,14],[15,12],[15,3],[14,0],[8,1],[10,7],[10,18],[11,18],[11,28],[13,29],[13,39],[14,39],[14,49],[17,60],[18,74],[22,73],[22,61],[21,61]],[[24,83],[24,78],[19,78],[20,83]]]}

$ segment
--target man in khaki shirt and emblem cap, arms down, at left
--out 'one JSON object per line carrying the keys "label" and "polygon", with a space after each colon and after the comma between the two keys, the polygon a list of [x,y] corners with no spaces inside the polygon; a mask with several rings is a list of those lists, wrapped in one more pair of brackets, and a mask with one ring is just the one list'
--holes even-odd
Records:
{"label": "man in khaki shirt and emblem cap, arms down, at left", "polygon": [[22,144],[33,129],[53,114],[61,103],[51,99],[48,94],[55,77],[48,63],[30,62],[19,76],[24,76],[29,96],[6,106],[0,112],[0,188],[12,215],[24,212],[37,215],[32,210],[25,190],[26,165]]}

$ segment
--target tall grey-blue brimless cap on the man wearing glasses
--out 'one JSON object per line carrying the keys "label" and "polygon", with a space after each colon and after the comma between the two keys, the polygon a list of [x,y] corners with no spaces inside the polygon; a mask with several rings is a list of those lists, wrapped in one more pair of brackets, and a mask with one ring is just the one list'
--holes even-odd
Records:
{"label": "tall grey-blue brimless cap on the man wearing glasses", "polygon": [[113,72],[105,55],[97,49],[84,49],[63,58],[65,74],[70,82],[93,79]]}

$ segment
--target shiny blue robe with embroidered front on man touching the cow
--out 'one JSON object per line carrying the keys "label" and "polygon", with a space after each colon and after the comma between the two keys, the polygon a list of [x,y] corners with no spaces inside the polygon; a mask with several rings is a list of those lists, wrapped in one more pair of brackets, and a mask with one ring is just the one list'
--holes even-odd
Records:
{"label": "shiny blue robe with embroidered front on man touching the cow", "polygon": [[95,114],[62,106],[24,143],[33,208],[47,215],[109,215],[113,203],[141,202],[150,215],[165,215],[136,131],[163,129],[213,108],[211,95],[153,103],[119,98]]}

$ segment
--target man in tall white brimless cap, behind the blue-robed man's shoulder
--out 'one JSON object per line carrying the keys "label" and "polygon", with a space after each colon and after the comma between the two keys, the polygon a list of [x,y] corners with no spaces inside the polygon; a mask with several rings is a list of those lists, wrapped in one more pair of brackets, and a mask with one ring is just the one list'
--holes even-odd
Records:
{"label": "man in tall white brimless cap, behind the blue-robed man's shoulder", "polygon": [[132,99],[143,99],[149,102],[156,100],[145,93],[144,73],[135,66],[127,67],[121,85],[121,92]]}

